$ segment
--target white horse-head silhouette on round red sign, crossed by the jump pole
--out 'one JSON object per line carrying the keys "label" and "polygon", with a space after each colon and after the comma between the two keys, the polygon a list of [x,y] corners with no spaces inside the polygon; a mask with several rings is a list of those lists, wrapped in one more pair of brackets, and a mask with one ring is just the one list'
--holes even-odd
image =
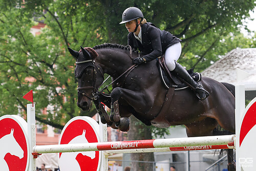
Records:
{"label": "white horse-head silhouette on round red sign, crossed by the jump pole", "polygon": [[[68,144],[77,144],[77,143],[89,143],[86,139],[86,130],[83,130],[82,134],[73,138]],[[95,158],[96,152],[71,152],[71,153],[62,153],[59,157],[59,166],[60,169],[65,170],[81,170],[76,157],[78,154],[83,156],[88,156],[91,159]],[[69,161],[69,162],[67,162]]]}

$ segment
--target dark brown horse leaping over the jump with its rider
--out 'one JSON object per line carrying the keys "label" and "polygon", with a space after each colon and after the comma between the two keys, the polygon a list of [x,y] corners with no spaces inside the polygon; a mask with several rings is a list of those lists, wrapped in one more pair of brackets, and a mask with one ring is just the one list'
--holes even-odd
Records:
{"label": "dark brown horse leaping over the jump with its rider", "polygon": [[[114,122],[113,128],[128,131],[128,118],[134,115],[146,125],[168,127],[183,124],[188,137],[214,135],[218,125],[235,133],[233,85],[202,77],[200,83],[209,96],[199,100],[190,88],[166,89],[157,60],[133,65],[132,59],[140,54],[131,47],[103,44],[93,48],[81,47],[79,52],[68,49],[76,58],[78,107],[89,110],[94,102],[101,121],[109,125]],[[98,90],[105,73],[113,80],[110,96],[102,94],[103,89]],[[100,102],[111,108],[110,117],[103,112]],[[232,158],[232,149],[228,154]],[[232,159],[228,160],[230,165],[233,164]]]}

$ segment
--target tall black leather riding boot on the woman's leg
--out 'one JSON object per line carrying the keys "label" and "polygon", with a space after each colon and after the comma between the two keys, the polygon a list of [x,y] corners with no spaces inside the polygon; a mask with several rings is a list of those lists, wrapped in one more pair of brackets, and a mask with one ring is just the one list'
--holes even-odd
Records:
{"label": "tall black leather riding boot on the woman's leg", "polygon": [[203,88],[203,86],[196,82],[187,72],[186,69],[184,69],[178,62],[175,61],[176,67],[174,69],[174,72],[178,74],[180,78],[182,78],[184,81],[189,83],[196,92],[197,97],[200,100],[204,100],[209,96],[209,93]]}

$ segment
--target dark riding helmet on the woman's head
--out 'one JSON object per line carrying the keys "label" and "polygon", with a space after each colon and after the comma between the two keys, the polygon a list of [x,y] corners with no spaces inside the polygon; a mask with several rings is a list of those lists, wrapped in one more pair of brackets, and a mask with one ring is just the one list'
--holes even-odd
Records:
{"label": "dark riding helmet on the woman's head", "polygon": [[138,18],[141,18],[141,21],[144,18],[143,13],[141,12],[141,10],[136,8],[136,7],[129,7],[129,8],[127,8],[123,11],[122,22],[120,22],[119,24],[124,24],[124,23],[127,23],[127,22],[131,22],[132,20],[136,19],[136,28],[134,30],[134,32],[136,32],[137,28],[139,26],[138,22],[137,22]]}

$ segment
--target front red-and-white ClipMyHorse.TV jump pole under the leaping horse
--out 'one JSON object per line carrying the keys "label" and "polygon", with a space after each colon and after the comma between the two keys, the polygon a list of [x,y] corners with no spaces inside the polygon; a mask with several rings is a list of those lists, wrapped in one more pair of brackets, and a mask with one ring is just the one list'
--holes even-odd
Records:
{"label": "front red-and-white ClipMyHorse.TV jump pole under the leaping horse", "polygon": [[[86,144],[58,144],[58,145],[36,145],[33,147],[34,153],[65,153],[65,152],[85,152],[85,151],[108,151],[119,149],[142,149],[142,148],[163,148],[181,147],[184,148],[210,148],[219,149],[226,145],[232,146],[235,135],[189,137],[189,138],[169,138],[155,140],[136,140],[136,141],[116,141],[116,142],[95,142]],[[228,146],[227,146],[228,145]],[[190,146],[190,147],[188,147]],[[194,147],[191,147],[194,146]],[[198,147],[195,147],[198,146]],[[215,147],[215,148],[213,148]],[[177,149],[176,149],[177,150]],[[184,150],[184,149],[183,149]],[[201,149],[202,150],[202,149]],[[172,148],[170,148],[172,151]],[[173,148],[173,151],[175,149]]]}

